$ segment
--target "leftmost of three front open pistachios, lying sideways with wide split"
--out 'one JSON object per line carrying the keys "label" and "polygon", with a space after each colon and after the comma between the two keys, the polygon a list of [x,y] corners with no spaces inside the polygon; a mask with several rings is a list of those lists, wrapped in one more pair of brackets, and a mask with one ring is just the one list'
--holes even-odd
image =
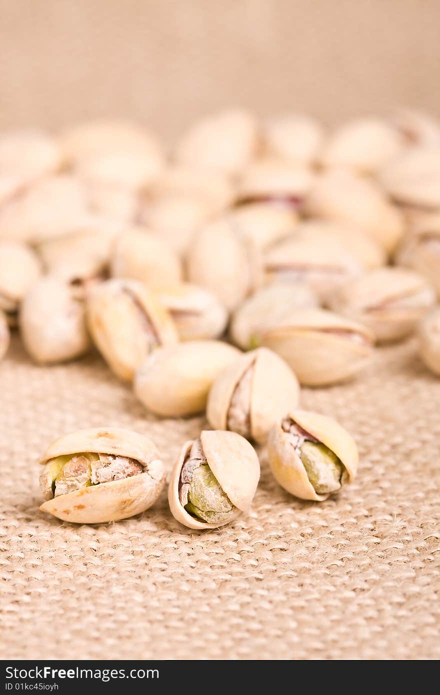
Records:
{"label": "leftmost of three front open pistachios, lying sideways with wide split", "polygon": [[56,439],[40,463],[42,512],[73,523],[105,523],[151,507],[165,485],[154,443],[117,427]]}

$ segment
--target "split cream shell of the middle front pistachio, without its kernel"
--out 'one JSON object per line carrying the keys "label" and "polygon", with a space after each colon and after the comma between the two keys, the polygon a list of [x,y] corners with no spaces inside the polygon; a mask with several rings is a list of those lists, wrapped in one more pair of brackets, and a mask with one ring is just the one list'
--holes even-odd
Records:
{"label": "split cream shell of the middle front pistachio, without its kernel", "polygon": [[[200,439],[206,461],[220,487],[238,509],[238,514],[247,512],[252,504],[260,477],[259,459],[254,448],[236,432],[204,431],[200,434]],[[171,473],[168,502],[170,502],[172,516],[188,528],[197,530],[218,528],[223,524],[199,521],[188,514],[179,500],[181,469],[193,443],[188,441],[184,444]],[[233,518],[236,518],[238,514]]]}

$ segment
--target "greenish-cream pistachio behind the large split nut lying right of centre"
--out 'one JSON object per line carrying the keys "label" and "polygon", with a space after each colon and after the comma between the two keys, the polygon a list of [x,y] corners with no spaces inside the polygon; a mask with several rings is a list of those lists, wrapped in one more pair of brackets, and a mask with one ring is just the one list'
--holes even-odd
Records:
{"label": "greenish-cream pistachio behind the large split nut lying right of centre", "polygon": [[295,309],[318,307],[318,297],[303,283],[270,284],[261,287],[234,311],[229,334],[235,345],[251,350],[261,345],[261,336]]}

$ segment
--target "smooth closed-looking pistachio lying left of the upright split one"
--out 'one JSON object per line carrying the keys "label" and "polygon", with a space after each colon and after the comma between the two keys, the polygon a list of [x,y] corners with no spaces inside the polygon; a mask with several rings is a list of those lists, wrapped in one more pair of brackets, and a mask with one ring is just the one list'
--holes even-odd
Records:
{"label": "smooth closed-looking pistachio lying left of the upright split one", "polygon": [[221,341],[186,341],[154,350],[142,362],[134,390],[145,407],[162,417],[204,411],[215,377],[240,352]]}

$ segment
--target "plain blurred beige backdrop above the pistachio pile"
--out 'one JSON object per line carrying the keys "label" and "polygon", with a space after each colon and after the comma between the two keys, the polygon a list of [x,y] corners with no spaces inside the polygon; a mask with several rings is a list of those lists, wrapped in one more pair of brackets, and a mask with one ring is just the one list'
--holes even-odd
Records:
{"label": "plain blurred beige backdrop above the pistachio pile", "polygon": [[440,114],[438,0],[0,0],[0,128],[244,104]]}

